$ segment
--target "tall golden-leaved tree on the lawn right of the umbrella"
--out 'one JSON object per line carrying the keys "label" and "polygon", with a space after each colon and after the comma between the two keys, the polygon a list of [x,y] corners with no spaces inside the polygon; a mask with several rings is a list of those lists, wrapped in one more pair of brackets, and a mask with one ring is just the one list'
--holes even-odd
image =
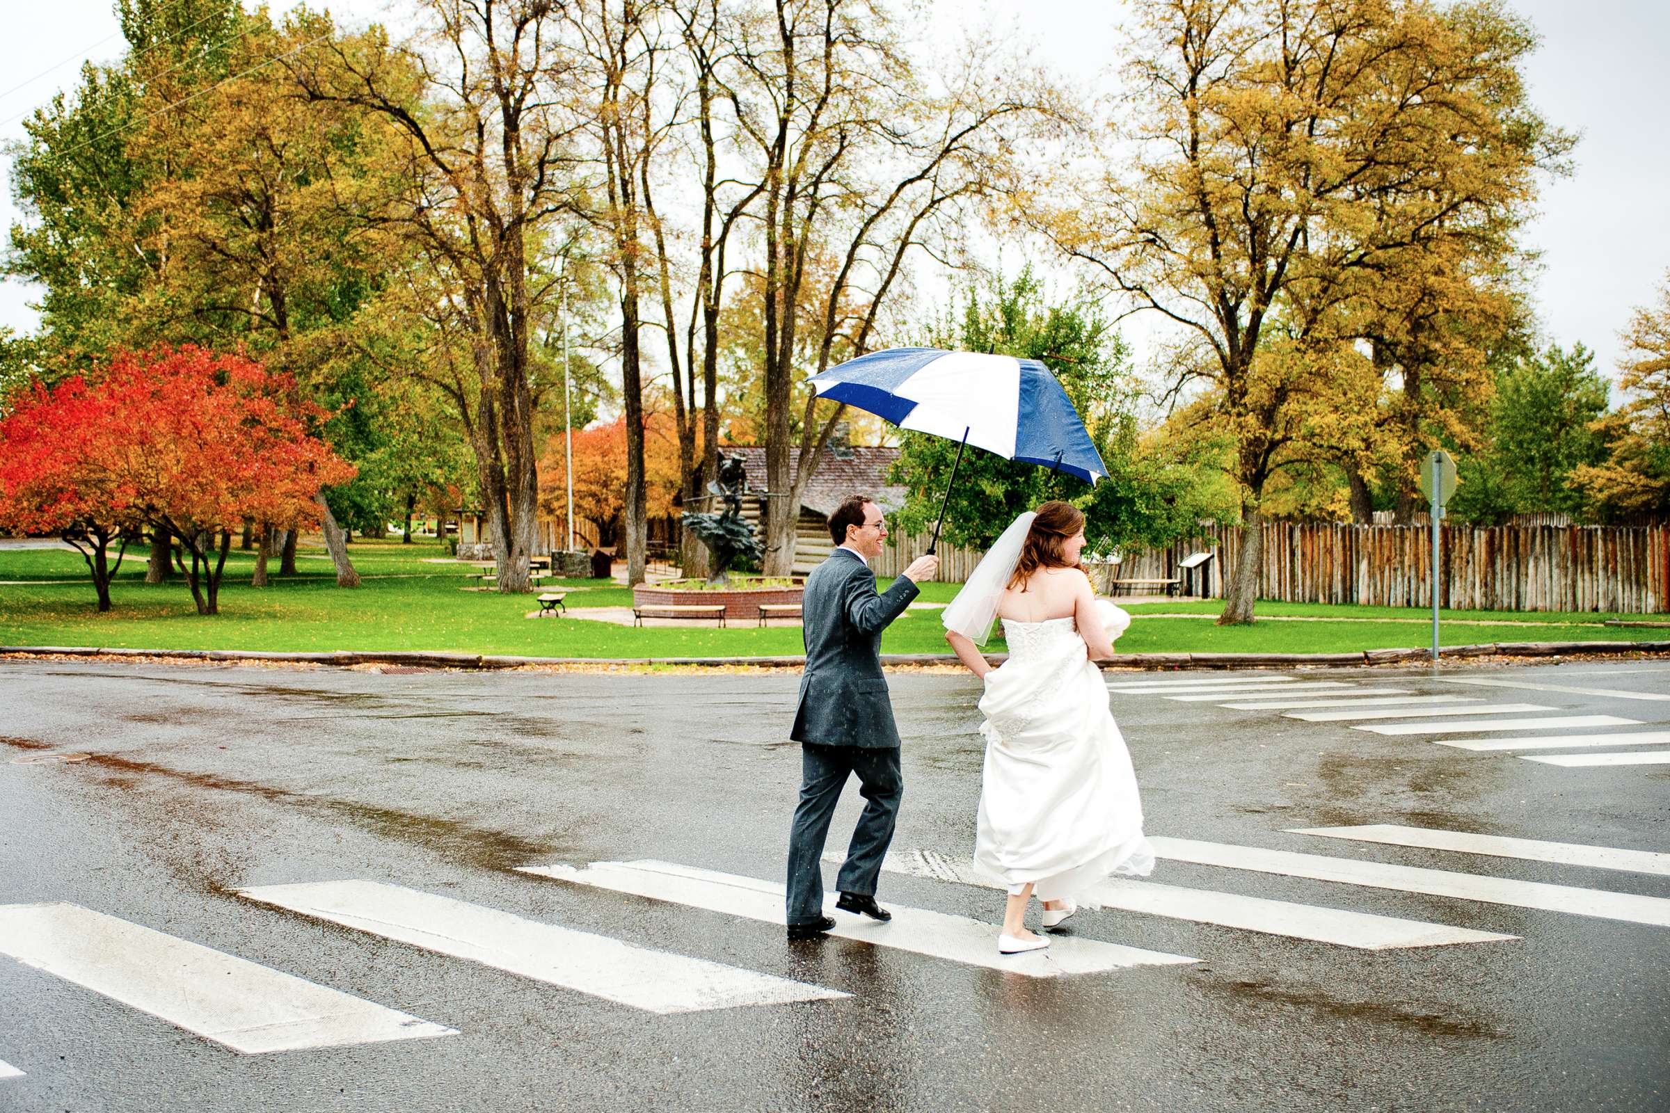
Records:
{"label": "tall golden-leaved tree on the lawn right of the umbrella", "polygon": [[1408,275],[1453,250],[1433,282],[1470,279],[1466,244],[1511,230],[1558,155],[1518,70],[1533,43],[1496,3],[1137,7],[1107,169],[1034,224],[1192,344],[1174,385],[1234,439],[1246,527],[1221,622],[1252,621],[1271,476],[1324,442],[1384,451],[1404,357],[1354,340],[1414,335]]}

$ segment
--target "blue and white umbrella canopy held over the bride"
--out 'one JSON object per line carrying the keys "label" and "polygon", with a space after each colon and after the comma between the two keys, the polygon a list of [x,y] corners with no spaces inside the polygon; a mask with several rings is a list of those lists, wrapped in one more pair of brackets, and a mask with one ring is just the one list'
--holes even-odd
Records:
{"label": "blue and white umbrella canopy held over the bride", "polygon": [[815,375],[820,397],[1094,484],[1107,474],[1067,392],[1035,359],[890,347]]}

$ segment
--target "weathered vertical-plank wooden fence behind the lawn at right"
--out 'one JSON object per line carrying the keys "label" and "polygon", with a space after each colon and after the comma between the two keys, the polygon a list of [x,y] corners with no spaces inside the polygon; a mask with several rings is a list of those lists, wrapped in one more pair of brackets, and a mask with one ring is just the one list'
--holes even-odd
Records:
{"label": "weathered vertical-plank wooden fence behind the lawn at right", "polygon": [[[1261,529],[1261,599],[1431,606],[1431,534],[1425,526],[1266,522]],[[877,576],[897,574],[925,547],[925,537],[902,537],[877,562]],[[1216,559],[1206,566],[1199,591],[1222,596],[1239,547],[1239,526],[1202,526],[1197,536],[1164,549],[1126,552],[1117,576],[1177,576],[1177,561],[1204,549]],[[962,582],[980,554],[942,544],[940,557],[940,579]],[[1445,526],[1441,564],[1445,607],[1670,611],[1670,526]]]}

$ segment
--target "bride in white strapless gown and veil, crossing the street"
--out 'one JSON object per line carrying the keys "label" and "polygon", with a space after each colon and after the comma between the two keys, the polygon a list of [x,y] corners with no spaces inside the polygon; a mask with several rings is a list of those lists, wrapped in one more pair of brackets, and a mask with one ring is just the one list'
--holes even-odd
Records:
{"label": "bride in white strapless gown and veil, crossing the street", "polygon": [[[1004,954],[1049,946],[1025,929],[1034,894],[1044,928],[1055,928],[1091,906],[1104,878],[1154,869],[1131,754],[1096,666],[1131,616],[1096,597],[1082,549],[1084,514],[1045,502],[1004,531],[944,614],[957,657],[985,679],[974,859],[1009,889]],[[1009,639],[997,669],[979,649],[994,619]]]}

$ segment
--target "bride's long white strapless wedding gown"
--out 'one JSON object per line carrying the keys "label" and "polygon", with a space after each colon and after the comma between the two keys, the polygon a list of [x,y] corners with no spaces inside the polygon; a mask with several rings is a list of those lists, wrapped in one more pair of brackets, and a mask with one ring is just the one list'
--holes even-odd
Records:
{"label": "bride's long white strapless wedding gown", "polygon": [[[1129,616],[1097,601],[1111,637]],[[974,858],[1012,893],[1094,906],[1112,874],[1142,876],[1154,851],[1131,754],[1107,706],[1102,671],[1074,619],[1004,619],[1009,659],[985,676],[985,769]]]}

